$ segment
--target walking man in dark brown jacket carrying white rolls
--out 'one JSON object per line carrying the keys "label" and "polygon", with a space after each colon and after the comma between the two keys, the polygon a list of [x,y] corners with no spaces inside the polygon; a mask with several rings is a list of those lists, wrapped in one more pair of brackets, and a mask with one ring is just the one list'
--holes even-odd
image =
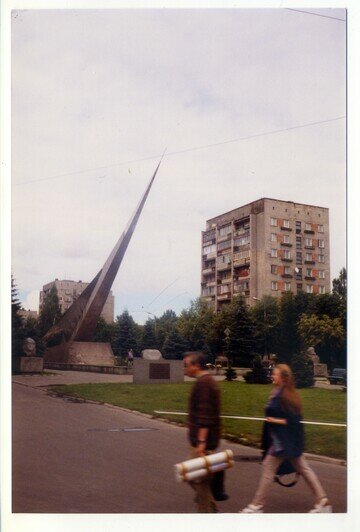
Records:
{"label": "walking man in dark brown jacket carrying white rolls", "polygon": [[[185,374],[196,378],[189,398],[188,436],[191,458],[214,452],[220,441],[220,390],[206,371],[203,353],[186,353]],[[217,506],[211,491],[211,477],[190,482],[196,492],[198,512],[214,513]]]}

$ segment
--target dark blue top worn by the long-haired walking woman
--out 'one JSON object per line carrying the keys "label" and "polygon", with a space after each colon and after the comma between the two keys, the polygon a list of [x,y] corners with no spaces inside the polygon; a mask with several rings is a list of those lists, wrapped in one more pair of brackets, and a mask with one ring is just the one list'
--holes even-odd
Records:
{"label": "dark blue top worn by the long-haired walking woman", "polygon": [[289,405],[284,408],[281,404],[281,389],[270,396],[265,407],[266,417],[286,419],[286,425],[264,423],[262,448],[265,454],[273,456],[296,458],[304,451],[304,430],[300,423],[301,416]]}

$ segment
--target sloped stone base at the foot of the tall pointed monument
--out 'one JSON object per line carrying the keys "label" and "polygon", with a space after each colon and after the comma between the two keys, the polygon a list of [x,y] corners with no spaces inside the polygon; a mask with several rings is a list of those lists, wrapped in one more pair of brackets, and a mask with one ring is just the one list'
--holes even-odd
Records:
{"label": "sloped stone base at the foot of the tall pointed monument", "polygon": [[44,363],[51,362],[114,366],[115,357],[109,343],[68,342],[46,348]]}

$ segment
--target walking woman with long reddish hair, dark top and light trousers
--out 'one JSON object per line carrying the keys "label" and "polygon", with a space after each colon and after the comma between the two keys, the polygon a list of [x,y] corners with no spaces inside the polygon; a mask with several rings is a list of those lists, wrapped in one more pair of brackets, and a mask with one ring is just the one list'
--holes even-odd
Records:
{"label": "walking woman with long reddish hair, dark top and light trousers", "polygon": [[263,448],[266,456],[259,486],[252,502],[240,513],[262,513],[266,496],[274,481],[280,464],[289,460],[296,471],[304,477],[315,496],[315,506],[310,513],[332,512],[326,493],[303,456],[304,433],[301,399],[295,389],[291,369],[278,364],[272,372],[275,389],[265,408]]}

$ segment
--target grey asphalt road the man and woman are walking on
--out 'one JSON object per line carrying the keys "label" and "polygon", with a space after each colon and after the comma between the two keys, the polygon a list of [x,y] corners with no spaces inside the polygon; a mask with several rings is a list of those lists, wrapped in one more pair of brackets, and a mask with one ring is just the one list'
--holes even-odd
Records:
{"label": "grey asphalt road the man and woman are walking on", "polygon": [[[237,457],[259,455],[225,441],[221,448]],[[173,473],[187,451],[182,427],[13,384],[14,513],[193,513],[192,490]],[[346,468],[318,461],[311,466],[334,512],[345,512]],[[219,503],[220,512],[234,513],[250,502],[260,472],[258,463],[237,461],[227,472],[230,499]],[[303,513],[312,504],[303,479],[293,488],[274,483],[266,512]]]}

